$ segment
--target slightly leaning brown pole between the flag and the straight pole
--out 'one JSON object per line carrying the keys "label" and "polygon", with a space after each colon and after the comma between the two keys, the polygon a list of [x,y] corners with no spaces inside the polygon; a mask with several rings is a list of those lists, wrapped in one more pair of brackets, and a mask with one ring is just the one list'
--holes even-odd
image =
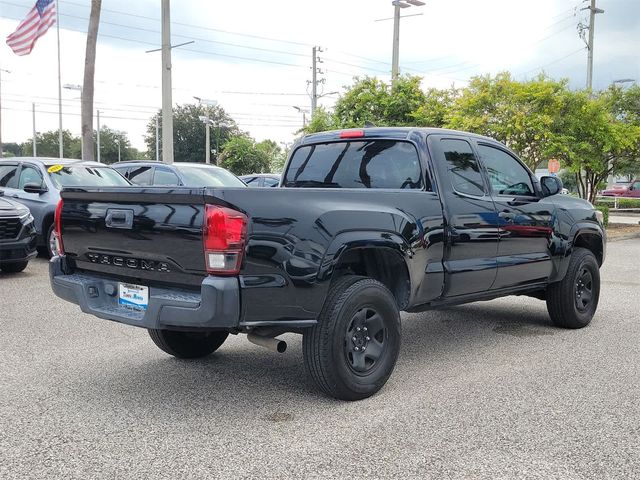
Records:
{"label": "slightly leaning brown pole between the flag and the straight pole", "polygon": [[93,149],[93,90],[96,73],[96,43],[100,26],[102,0],[91,0],[87,47],[84,57],[84,79],[80,88],[82,155],[83,160],[94,159]]}

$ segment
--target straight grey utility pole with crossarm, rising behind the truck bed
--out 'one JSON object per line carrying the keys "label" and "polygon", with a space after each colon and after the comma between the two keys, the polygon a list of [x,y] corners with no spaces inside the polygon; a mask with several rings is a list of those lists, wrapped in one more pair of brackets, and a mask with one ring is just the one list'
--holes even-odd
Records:
{"label": "straight grey utility pole with crossarm, rising behind the truck bed", "polygon": [[171,6],[162,0],[162,161],[173,163],[173,100],[171,99]]}

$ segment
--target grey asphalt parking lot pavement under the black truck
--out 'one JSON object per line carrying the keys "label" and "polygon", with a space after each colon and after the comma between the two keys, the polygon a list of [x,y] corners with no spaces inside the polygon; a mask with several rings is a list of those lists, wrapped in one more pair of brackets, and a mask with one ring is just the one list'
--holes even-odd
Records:
{"label": "grey asphalt parking lot pavement under the black truck", "polygon": [[0,478],[640,478],[640,241],[609,246],[591,326],[509,297],[403,317],[376,396],[323,397],[301,342],[181,361],[0,274]]}

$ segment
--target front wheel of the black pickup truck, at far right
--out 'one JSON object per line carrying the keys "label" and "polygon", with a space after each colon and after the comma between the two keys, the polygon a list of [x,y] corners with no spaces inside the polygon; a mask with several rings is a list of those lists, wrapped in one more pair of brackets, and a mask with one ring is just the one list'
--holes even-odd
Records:
{"label": "front wheel of the black pickup truck, at far right", "polygon": [[600,270],[591,251],[575,248],[564,278],[547,288],[547,310],[557,327],[583,328],[598,308]]}

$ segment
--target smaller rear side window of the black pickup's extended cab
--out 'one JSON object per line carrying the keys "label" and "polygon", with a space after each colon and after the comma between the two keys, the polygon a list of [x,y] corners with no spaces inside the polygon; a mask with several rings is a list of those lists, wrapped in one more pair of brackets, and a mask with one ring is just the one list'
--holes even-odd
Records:
{"label": "smaller rear side window of the black pickup's extended cab", "polygon": [[482,173],[471,145],[465,140],[442,139],[440,142],[453,189],[467,195],[483,196]]}

